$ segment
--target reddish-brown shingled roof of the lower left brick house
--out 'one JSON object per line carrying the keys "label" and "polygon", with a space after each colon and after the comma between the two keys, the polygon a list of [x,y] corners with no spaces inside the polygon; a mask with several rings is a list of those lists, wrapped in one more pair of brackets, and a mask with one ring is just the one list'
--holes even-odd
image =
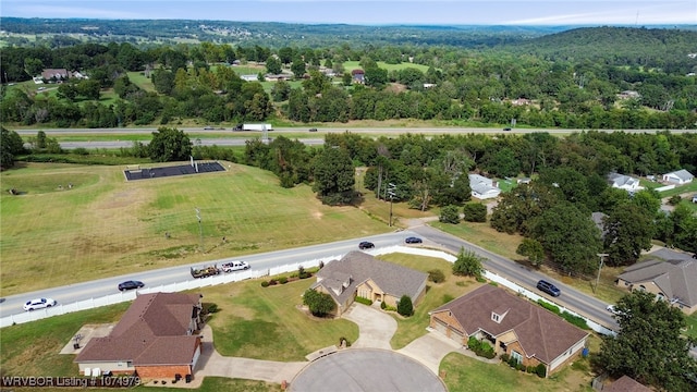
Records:
{"label": "reddish-brown shingled roof of the lower left brick house", "polygon": [[199,301],[198,294],[138,295],[111,333],[90,340],[75,362],[189,364],[197,338],[188,328]]}

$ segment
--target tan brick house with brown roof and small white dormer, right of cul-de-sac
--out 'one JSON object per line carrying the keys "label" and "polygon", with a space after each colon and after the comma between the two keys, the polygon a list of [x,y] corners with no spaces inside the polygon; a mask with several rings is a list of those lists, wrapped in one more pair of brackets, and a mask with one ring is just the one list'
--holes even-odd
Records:
{"label": "tan brick house with brown roof and small white dormer, right of cul-de-sac", "polygon": [[489,284],[430,313],[430,328],[458,344],[489,342],[524,366],[559,370],[586,345],[588,333],[553,313]]}

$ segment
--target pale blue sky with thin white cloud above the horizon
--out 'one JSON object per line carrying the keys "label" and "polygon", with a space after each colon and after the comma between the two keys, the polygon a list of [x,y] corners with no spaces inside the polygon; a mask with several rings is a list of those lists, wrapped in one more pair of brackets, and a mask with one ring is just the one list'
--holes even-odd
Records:
{"label": "pale blue sky with thin white cloud above the horizon", "polygon": [[697,0],[2,0],[0,16],[364,25],[695,25]]}

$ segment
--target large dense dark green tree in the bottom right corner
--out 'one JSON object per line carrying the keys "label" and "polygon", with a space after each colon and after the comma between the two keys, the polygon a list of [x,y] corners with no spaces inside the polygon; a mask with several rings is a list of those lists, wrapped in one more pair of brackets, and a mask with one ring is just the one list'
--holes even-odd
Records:
{"label": "large dense dark green tree in the bottom right corner", "polygon": [[694,339],[685,339],[683,313],[652,293],[634,291],[616,305],[616,336],[602,340],[598,365],[613,376],[629,376],[664,391],[694,391],[689,377],[697,360],[689,356]]}

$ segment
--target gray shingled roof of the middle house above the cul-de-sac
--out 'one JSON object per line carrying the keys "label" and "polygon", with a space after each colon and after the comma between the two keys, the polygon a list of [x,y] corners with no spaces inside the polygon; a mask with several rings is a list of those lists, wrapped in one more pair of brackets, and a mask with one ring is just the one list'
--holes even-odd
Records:
{"label": "gray shingled roof of the middle house above the cul-de-sac", "polygon": [[[346,277],[351,277],[351,284],[341,294],[337,294],[332,289],[337,286],[337,282],[344,282]],[[343,304],[348,296],[355,294],[358,284],[368,279],[372,280],[387,294],[398,298],[402,295],[408,295],[412,299],[416,299],[420,294],[419,290],[425,286],[428,274],[378,260],[363,252],[353,250],[341,260],[330,261],[319,270],[317,283],[313,287],[325,286],[338,303]]]}

